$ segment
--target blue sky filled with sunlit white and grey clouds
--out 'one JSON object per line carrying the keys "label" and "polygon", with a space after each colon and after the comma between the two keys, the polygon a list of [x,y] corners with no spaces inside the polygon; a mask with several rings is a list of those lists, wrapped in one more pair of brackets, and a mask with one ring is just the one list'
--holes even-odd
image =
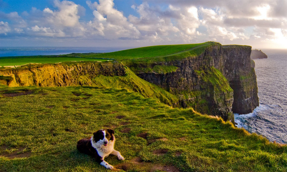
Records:
{"label": "blue sky filled with sunlit white and grey clouds", "polygon": [[287,1],[6,1],[0,46],[287,48]]}

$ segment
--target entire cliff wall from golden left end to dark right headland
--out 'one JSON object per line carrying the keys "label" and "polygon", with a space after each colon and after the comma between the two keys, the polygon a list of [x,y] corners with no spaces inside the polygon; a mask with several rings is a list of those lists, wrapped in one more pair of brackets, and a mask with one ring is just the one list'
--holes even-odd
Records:
{"label": "entire cliff wall from golden left end to dark right headland", "polygon": [[[196,53],[192,54],[190,50]],[[176,53],[122,62],[4,68],[0,70],[0,79],[1,84],[9,86],[124,88],[158,98],[168,105],[193,107],[201,113],[221,116],[232,122],[233,113],[250,113],[259,105],[250,46],[208,42],[183,53],[184,56]]]}

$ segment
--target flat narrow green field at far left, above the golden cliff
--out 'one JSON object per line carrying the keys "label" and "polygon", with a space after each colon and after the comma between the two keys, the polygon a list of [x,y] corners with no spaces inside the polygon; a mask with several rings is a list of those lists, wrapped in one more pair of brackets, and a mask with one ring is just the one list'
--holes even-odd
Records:
{"label": "flat narrow green field at far left, above the golden cliff", "polygon": [[107,61],[106,59],[94,59],[94,58],[79,58],[79,57],[25,57],[25,58],[1,58],[0,66],[15,66],[28,63],[59,63],[70,61]]}

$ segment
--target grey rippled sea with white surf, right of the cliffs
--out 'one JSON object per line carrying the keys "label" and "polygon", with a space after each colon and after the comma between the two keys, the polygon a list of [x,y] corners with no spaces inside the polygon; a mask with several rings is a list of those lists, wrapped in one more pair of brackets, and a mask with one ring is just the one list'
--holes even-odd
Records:
{"label": "grey rippled sea with white surf, right of the cliffs", "polygon": [[237,127],[287,143],[287,50],[262,50],[267,59],[255,59],[259,107],[234,114]]}

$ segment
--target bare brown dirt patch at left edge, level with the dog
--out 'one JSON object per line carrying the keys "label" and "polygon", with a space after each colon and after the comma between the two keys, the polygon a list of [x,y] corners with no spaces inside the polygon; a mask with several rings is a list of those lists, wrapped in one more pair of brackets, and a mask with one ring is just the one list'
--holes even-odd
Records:
{"label": "bare brown dirt patch at left edge, level with the dog", "polygon": [[6,156],[9,159],[14,158],[26,158],[31,155],[31,152],[23,152],[25,150],[25,147],[19,147],[17,148],[17,151],[13,151],[12,148],[8,149],[9,147],[6,145],[3,145],[0,147],[1,156]]}

